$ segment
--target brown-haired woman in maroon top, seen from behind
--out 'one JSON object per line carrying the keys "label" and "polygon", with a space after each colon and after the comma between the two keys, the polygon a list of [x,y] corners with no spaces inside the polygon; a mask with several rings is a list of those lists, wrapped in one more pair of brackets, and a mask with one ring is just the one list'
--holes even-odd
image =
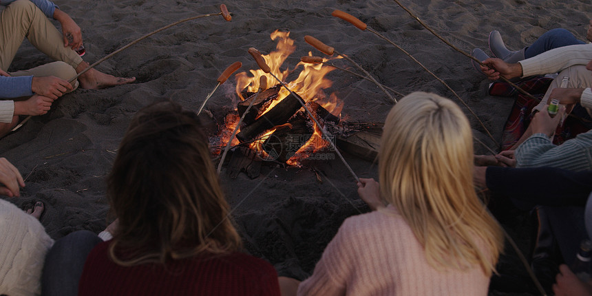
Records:
{"label": "brown-haired woman in maroon top, seen from behind", "polygon": [[78,295],[279,295],[242,242],[198,117],[170,102],[131,120],[107,178],[118,218],[88,255]]}

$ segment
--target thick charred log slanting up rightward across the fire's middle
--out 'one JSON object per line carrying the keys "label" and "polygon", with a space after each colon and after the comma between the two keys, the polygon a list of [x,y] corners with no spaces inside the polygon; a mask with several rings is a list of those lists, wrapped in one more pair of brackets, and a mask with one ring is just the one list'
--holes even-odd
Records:
{"label": "thick charred log slanting up rightward across the fire's middle", "polygon": [[286,98],[277,103],[271,110],[263,114],[260,118],[257,118],[254,123],[243,127],[240,133],[236,135],[236,138],[241,142],[252,140],[257,135],[276,125],[283,125],[302,108],[302,104],[304,104],[304,101],[297,94],[286,96]]}

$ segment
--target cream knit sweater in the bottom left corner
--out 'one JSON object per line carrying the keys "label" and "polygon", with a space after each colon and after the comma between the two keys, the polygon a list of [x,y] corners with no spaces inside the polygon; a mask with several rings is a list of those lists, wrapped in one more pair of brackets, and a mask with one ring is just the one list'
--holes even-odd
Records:
{"label": "cream knit sweater in the bottom left corner", "polygon": [[45,253],[54,243],[43,225],[0,199],[0,237],[0,294],[40,295]]}

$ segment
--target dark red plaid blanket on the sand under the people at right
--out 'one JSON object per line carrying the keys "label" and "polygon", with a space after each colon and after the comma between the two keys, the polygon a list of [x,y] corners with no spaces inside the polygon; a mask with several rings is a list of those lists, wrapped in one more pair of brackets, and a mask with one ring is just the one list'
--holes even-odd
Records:
{"label": "dark red plaid blanket on the sand under the people at right", "polygon": [[[514,106],[512,106],[502,134],[502,150],[510,149],[518,142],[520,136],[524,134],[532,119],[532,109],[545,96],[545,92],[547,92],[551,81],[553,81],[552,78],[532,76],[516,83],[518,87],[524,89],[535,98],[538,98],[538,100],[534,100],[518,92],[509,83],[496,82],[489,87],[489,94],[491,96],[516,96],[516,101],[514,101]],[[580,104],[576,104],[571,115],[564,121],[564,124],[557,128],[553,143],[560,145],[562,142],[588,131],[591,127],[592,118],[590,118],[586,109],[580,106]]]}

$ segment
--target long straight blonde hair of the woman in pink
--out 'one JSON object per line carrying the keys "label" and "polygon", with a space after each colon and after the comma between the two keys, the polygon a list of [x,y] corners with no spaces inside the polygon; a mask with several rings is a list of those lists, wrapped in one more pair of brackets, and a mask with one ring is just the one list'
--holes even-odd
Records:
{"label": "long straight blonde hair of the woman in pink", "polygon": [[472,132],[461,109],[436,94],[405,96],[386,118],[379,157],[381,196],[408,222],[427,262],[478,264],[491,275],[503,232],[474,191]]}

